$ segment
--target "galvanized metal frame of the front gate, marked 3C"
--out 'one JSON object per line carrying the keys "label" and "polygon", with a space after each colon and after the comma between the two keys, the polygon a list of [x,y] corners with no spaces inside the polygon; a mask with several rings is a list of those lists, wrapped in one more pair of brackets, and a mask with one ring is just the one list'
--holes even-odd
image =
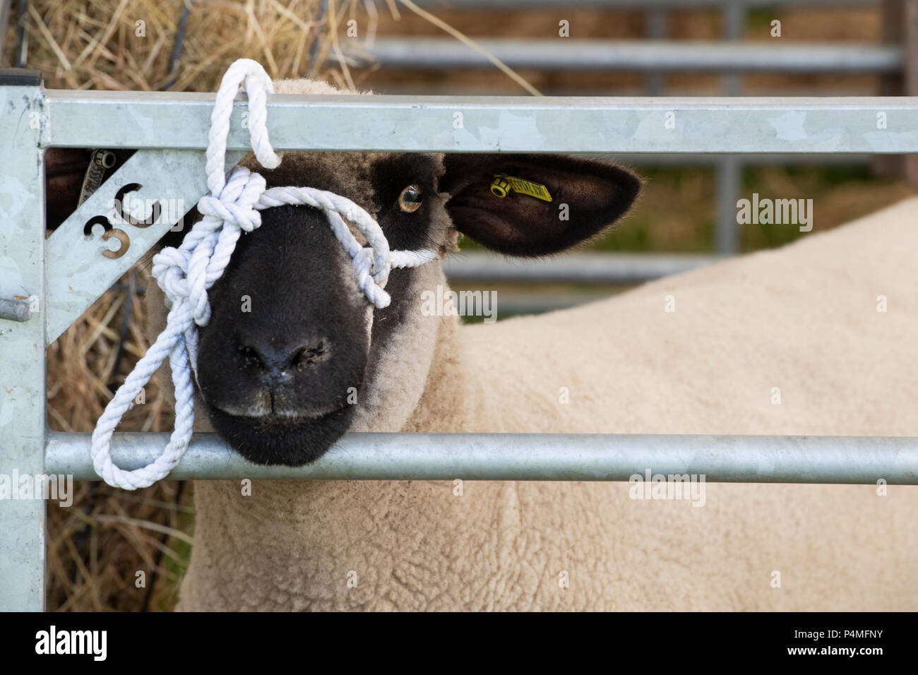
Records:
{"label": "galvanized metal frame of the front gate, marked 3C", "polygon": [[[119,187],[140,183],[138,197],[171,195],[189,207],[205,193],[213,101],[45,90],[37,72],[0,73],[0,474],[94,478],[89,434],[48,430],[44,349],[173,225],[126,225],[126,250],[105,257],[115,238],[86,237],[84,224],[106,214]],[[268,107],[278,151],[918,152],[918,97],[274,96]],[[229,163],[249,147],[245,109],[238,102],[230,121]],[[49,147],[139,152],[46,240]],[[163,444],[157,434],[118,433],[113,456],[136,467]],[[709,481],[913,485],[918,438],[354,433],[315,464],[286,468],[249,464],[196,434],[171,478],[627,480],[647,466]],[[40,610],[45,503],[5,500],[0,509],[0,609]]]}

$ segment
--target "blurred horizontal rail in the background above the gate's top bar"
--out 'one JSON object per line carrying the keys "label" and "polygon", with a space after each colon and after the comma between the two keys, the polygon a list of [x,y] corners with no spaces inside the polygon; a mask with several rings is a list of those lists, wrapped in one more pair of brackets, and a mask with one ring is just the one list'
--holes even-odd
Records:
{"label": "blurred horizontal rail in the background above the gate's top bar", "polygon": [[[899,45],[701,42],[654,39],[476,39],[510,68],[545,71],[654,73],[898,73]],[[345,51],[349,62],[384,68],[493,68],[485,56],[452,38],[380,38]]]}

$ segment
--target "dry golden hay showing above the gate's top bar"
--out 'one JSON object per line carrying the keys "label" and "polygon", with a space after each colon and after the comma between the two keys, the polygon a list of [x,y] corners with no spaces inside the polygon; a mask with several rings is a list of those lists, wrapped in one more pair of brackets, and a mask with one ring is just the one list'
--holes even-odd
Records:
{"label": "dry golden hay showing above the gate's top bar", "polygon": [[[319,20],[320,6],[321,0],[195,0],[172,73],[185,0],[32,0],[24,17],[27,65],[41,70],[46,86],[61,89],[156,91],[174,80],[174,91],[215,91],[227,64],[242,57],[261,62],[274,78],[300,77],[312,51],[317,63],[328,54],[330,40],[323,38],[333,27]],[[14,13],[6,28],[7,64],[15,62],[17,20]]]}

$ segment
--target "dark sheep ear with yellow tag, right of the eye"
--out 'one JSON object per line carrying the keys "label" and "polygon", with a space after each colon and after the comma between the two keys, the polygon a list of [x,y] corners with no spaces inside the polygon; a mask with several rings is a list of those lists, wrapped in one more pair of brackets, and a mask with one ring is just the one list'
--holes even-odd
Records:
{"label": "dark sheep ear with yellow tag, right of the eye", "polygon": [[565,155],[446,154],[440,191],[456,230],[508,255],[558,253],[621,218],[641,179]]}

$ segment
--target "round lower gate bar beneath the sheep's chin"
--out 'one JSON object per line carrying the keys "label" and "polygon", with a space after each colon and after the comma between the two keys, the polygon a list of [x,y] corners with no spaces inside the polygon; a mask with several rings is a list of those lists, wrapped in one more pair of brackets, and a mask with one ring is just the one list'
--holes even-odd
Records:
{"label": "round lower gate bar beneath the sheep's chin", "polygon": [[[116,433],[112,458],[140,467],[166,433]],[[151,448],[151,441],[154,447]],[[92,479],[89,433],[51,432],[53,473]],[[704,475],[709,482],[918,484],[918,438],[598,433],[351,433],[307,467],[264,467],[214,434],[192,438],[170,478],[284,480],[628,480]]]}

